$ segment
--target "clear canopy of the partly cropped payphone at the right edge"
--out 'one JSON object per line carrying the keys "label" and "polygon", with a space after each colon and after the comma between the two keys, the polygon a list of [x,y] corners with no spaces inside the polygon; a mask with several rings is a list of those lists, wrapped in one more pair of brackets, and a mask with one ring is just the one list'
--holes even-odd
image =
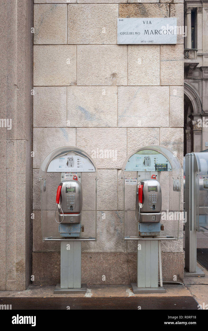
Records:
{"label": "clear canopy of the partly cropped payphone at the right edge", "polygon": [[195,155],[195,230],[208,232],[208,152]]}

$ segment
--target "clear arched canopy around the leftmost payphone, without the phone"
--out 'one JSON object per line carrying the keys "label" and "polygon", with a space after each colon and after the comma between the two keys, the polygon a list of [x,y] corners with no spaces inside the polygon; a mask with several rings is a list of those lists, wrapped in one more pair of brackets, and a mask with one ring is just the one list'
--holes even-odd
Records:
{"label": "clear arched canopy around the leftmost payphone, without the phone", "polygon": [[[68,158],[73,158],[70,164]],[[71,159],[70,158],[70,159]],[[82,232],[78,241],[95,241],[97,237],[97,168],[92,158],[82,149],[64,146],[50,152],[40,167],[41,227],[43,241],[73,240],[61,237],[55,221],[56,193],[60,182],[73,178],[81,181],[83,192]],[[70,177],[71,176],[71,177]],[[57,212],[58,217],[58,212]],[[84,230],[84,231],[83,231]]]}

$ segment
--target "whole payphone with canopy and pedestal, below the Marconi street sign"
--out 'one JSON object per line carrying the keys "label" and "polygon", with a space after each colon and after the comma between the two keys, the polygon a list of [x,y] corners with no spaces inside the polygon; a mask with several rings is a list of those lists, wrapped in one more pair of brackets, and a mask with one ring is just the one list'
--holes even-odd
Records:
{"label": "whole payphone with canopy and pedestal, below the Marconi street sign", "polygon": [[178,240],[181,176],[178,158],[163,146],[135,150],[122,166],[123,240],[137,241],[134,293],[165,292],[161,241]]}

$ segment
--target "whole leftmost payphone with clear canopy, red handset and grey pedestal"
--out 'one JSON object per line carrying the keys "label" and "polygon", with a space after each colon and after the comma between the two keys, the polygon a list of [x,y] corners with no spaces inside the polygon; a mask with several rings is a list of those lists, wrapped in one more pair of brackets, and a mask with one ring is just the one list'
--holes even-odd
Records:
{"label": "whole leftmost payphone with clear canopy, red handset and grey pedestal", "polygon": [[97,168],[82,149],[63,146],[43,160],[40,184],[43,242],[61,243],[61,281],[54,294],[86,293],[81,242],[97,240]]}

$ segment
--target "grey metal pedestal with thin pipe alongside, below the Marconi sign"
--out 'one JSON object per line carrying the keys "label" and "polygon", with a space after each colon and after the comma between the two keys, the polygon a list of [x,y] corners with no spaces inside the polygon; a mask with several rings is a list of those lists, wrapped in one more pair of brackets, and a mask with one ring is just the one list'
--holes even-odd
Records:
{"label": "grey metal pedestal with thin pipe alongside, below the Marconi sign", "polygon": [[[158,286],[158,257],[160,287]],[[160,240],[137,241],[137,282],[131,285],[134,293],[165,293]]]}

